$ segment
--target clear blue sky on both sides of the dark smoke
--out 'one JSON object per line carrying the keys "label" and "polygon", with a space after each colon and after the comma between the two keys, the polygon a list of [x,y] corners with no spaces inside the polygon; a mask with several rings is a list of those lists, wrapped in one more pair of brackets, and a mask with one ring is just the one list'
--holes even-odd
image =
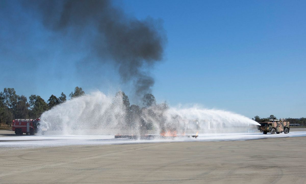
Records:
{"label": "clear blue sky on both sides of the dark smoke", "polygon": [[[119,1],[126,15],[162,21],[163,61],[150,71],[153,94],[170,105],[200,104],[252,118],[306,116],[305,1]],[[17,94],[112,94],[132,87],[117,68],[87,64],[88,42],[57,40],[19,2],[0,2],[0,89]],[[83,33],[90,31],[84,28]]]}

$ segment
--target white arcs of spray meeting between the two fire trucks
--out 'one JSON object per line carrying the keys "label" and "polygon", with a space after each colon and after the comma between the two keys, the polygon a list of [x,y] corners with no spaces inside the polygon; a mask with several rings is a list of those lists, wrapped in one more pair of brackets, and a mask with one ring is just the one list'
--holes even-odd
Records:
{"label": "white arcs of spray meeting between the two fire trucks", "polygon": [[[131,111],[118,97],[94,92],[57,105],[41,116],[50,130],[61,134],[160,134],[175,131],[183,134],[192,129],[220,130],[246,127],[257,122],[222,110],[173,108],[158,104]],[[86,133],[90,130],[91,133]]]}

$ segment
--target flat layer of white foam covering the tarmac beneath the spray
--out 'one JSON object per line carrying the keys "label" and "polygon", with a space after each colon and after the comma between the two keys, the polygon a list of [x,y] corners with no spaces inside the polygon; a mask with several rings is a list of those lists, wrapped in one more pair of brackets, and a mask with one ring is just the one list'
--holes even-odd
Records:
{"label": "flat layer of white foam covering the tarmac beneath the spray", "polygon": [[[13,133],[13,131],[11,131]],[[4,134],[2,134],[4,135]],[[190,134],[192,135],[192,134]],[[199,137],[177,137],[169,139],[156,138],[152,140],[131,140],[128,138],[114,138],[114,135],[6,135],[0,136],[0,148],[37,148],[68,145],[111,145],[111,144],[141,144],[162,142],[207,142],[207,141],[244,141],[265,138],[288,138],[306,136],[306,131],[293,132],[289,134],[262,134],[254,133],[210,133],[198,134]]]}

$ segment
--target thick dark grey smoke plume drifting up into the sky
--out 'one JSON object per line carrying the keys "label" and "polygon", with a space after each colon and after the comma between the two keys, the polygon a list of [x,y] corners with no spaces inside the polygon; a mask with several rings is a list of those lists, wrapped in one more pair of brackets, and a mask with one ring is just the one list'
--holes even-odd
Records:
{"label": "thick dark grey smoke plume drifting up into the sky", "polygon": [[[162,60],[166,42],[160,20],[127,17],[108,0],[48,0],[30,6],[39,9],[43,25],[50,30],[64,35],[73,33],[76,37],[94,35],[89,40],[94,40],[90,47],[95,55],[103,62],[108,53],[118,66],[122,81],[133,82],[137,96],[151,93],[154,79],[149,71]],[[85,28],[92,28],[96,34],[83,31]]]}

